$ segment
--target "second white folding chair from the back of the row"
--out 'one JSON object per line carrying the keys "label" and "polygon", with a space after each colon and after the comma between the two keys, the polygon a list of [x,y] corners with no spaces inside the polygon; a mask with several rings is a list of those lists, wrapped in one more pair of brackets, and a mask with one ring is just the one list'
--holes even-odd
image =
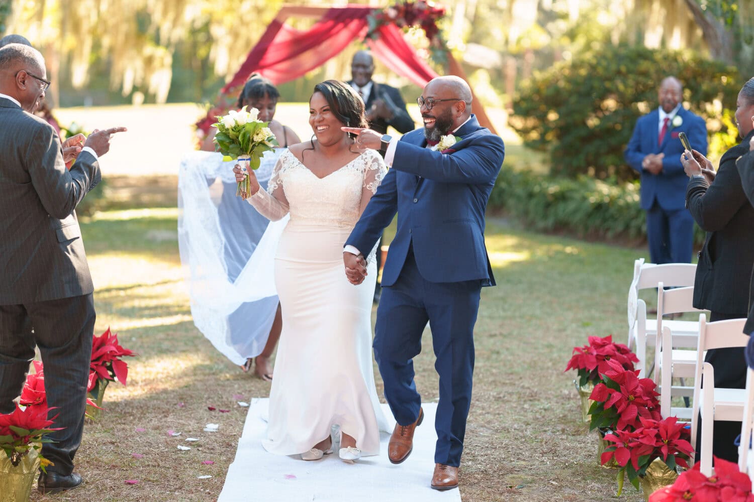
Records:
{"label": "second white folding chair from the back of the row", "polygon": [[673,378],[691,378],[696,371],[697,345],[699,343],[699,323],[693,321],[694,333],[686,331],[676,334],[670,327],[671,322],[663,315],[681,314],[683,312],[703,312],[694,309],[694,288],[664,289],[664,283],[657,284],[657,336],[654,349],[654,382],[659,384],[660,410],[662,416],[676,416],[682,421],[691,421],[691,408],[671,407],[673,396],[693,397],[694,388],[673,385]]}

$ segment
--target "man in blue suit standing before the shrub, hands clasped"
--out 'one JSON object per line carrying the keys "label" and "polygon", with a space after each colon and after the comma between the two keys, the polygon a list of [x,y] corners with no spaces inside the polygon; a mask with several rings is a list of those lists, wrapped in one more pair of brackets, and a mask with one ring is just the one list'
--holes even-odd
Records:
{"label": "man in blue suit standing before the shrub, hands clasped", "polygon": [[[642,178],[642,209],[652,263],[691,263],[694,218],[685,207],[688,177],[679,160],[685,132],[694,150],[706,152],[706,124],[681,105],[683,87],[675,77],[660,84],[660,106],[639,118],[624,154]],[[706,155],[706,154],[705,154]]]}

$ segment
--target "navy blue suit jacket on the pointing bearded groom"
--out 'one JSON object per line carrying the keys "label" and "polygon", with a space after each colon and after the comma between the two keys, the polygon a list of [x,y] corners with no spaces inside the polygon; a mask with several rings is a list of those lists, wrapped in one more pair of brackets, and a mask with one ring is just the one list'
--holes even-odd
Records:
{"label": "navy blue suit jacket on the pointing bearded groom", "polygon": [[365,252],[398,213],[398,228],[382,271],[382,285],[398,278],[409,245],[431,282],[479,280],[495,285],[484,244],[484,214],[505,148],[474,115],[455,132],[452,153],[425,148],[424,129],[403,135],[393,166],[366,205],[346,245]]}

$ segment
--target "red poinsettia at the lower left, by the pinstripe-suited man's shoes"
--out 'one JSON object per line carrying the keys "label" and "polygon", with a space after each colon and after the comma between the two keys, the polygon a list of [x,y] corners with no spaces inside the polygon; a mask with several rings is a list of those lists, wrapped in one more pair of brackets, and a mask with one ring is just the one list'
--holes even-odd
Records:
{"label": "red poinsettia at the lower left, by the pinstripe-suited man's shoes", "polygon": [[[51,443],[44,437],[52,431],[60,431],[62,427],[50,427],[57,415],[48,420],[47,406],[26,406],[16,409],[8,415],[0,415],[0,449],[11,459],[11,464],[18,465],[21,459],[30,451],[40,451],[42,444]],[[48,459],[39,455],[41,469],[51,464]]]}

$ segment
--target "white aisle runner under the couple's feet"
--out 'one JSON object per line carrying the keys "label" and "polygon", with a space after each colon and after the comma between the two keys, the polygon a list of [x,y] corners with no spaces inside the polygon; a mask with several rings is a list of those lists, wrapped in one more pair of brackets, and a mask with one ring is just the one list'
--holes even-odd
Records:
{"label": "white aisle runner under the couple's feet", "polygon": [[[262,448],[267,431],[268,399],[255,399],[249,408],[238,452],[225,478],[218,502],[458,502],[458,489],[437,491],[430,488],[434,470],[434,414],[437,404],[421,405],[425,419],[416,428],[414,450],[403,464],[388,460],[390,434],[381,436],[380,455],[364,457],[346,464],[338,457],[325,455],[319,461],[302,461],[299,455],[272,455]],[[385,416],[391,417],[387,404]],[[392,422],[394,423],[394,422]],[[336,445],[337,446],[337,445]]]}

